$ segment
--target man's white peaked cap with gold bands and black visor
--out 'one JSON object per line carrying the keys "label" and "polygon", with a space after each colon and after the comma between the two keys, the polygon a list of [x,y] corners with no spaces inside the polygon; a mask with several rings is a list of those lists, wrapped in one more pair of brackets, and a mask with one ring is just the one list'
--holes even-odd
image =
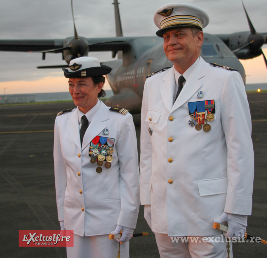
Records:
{"label": "man's white peaked cap with gold bands and black visor", "polygon": [[209,15],[205,10],[184,3],[161,6],[154,14],[154,23],[159,28],[156,35],[159,37],[177,27],[196,27],[203,30],[209,21]]}

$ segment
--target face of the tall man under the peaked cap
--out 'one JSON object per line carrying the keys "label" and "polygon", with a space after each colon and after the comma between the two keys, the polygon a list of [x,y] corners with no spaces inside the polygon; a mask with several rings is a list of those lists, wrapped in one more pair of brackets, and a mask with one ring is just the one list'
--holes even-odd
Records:
{"label": "face of the tall man under the peaked cap", "polygon": [[203,32],[193,36],[190,28],[182,27],[165,32],[163,40],[165,55],[174,65],[191,66],[200,54]]}

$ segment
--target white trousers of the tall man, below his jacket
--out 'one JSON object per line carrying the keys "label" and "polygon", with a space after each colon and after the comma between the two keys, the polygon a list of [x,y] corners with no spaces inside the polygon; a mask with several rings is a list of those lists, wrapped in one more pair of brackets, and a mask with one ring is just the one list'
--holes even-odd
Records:
{"label": "white trousers of the tall man, below his jacket", "polygon": [[[169,237],[167,234],[160,233],[155,233],[155,235],[161,258],[227,258],[228,256],[227,241],[221,234],[187,237],[187,243],[182,241],[186,237]],[[229,244],[232,258],[232,243]]]}

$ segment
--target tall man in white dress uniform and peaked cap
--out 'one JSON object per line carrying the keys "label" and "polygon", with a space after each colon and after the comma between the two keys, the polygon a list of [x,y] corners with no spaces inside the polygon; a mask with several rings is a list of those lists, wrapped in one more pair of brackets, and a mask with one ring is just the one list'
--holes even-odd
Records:
{"label": "tall man in white dress uniform and peaked cap", "polygon": [[[173,63],[145,82],[141,113],[141,205],[161,257],[227,257],[213,228],[243,236],[254,175],[251,117],[240,74],[200,57],[207,13],[175,3],[154,15]],[[173,243],[172,236],[197,242]],[[174,241],[175,242],[175,241]],[[231,245],[230,256],[232,257]]]}

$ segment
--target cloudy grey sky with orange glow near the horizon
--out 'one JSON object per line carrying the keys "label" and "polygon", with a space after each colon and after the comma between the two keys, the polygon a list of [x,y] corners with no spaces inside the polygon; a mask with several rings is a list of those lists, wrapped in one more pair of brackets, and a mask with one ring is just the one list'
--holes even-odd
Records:
{"label": "cloudy grey sky with orange glow near the horizon", "polygon": [[[113,0],[73,0],[78,36],[86,38],[115,36]],[[124,36],[153,36],[157,30],[153,15],[169,1],[120,0]],[[170,1],[171,2],[171,1]],[[183,0],[197,5],[210,16],[204,32],[227,34],[248,31],[241,0]],[[257,32],[267,32],[266,0],[243,0]],[[64,39],[74,35],[70,0],[1,0],[1,39]],[[267,57],[267,44],[263,46]],[[112,60],[111,53],[89,53],[100,61]],[[36,69],[36,66],[60,65],[61,54],[0,52],[0,95],[68,91],[60,69]],[[267,83],[262,57],[242,61],[247,83]],[[5,89],[5,90],[4,90]]]}

